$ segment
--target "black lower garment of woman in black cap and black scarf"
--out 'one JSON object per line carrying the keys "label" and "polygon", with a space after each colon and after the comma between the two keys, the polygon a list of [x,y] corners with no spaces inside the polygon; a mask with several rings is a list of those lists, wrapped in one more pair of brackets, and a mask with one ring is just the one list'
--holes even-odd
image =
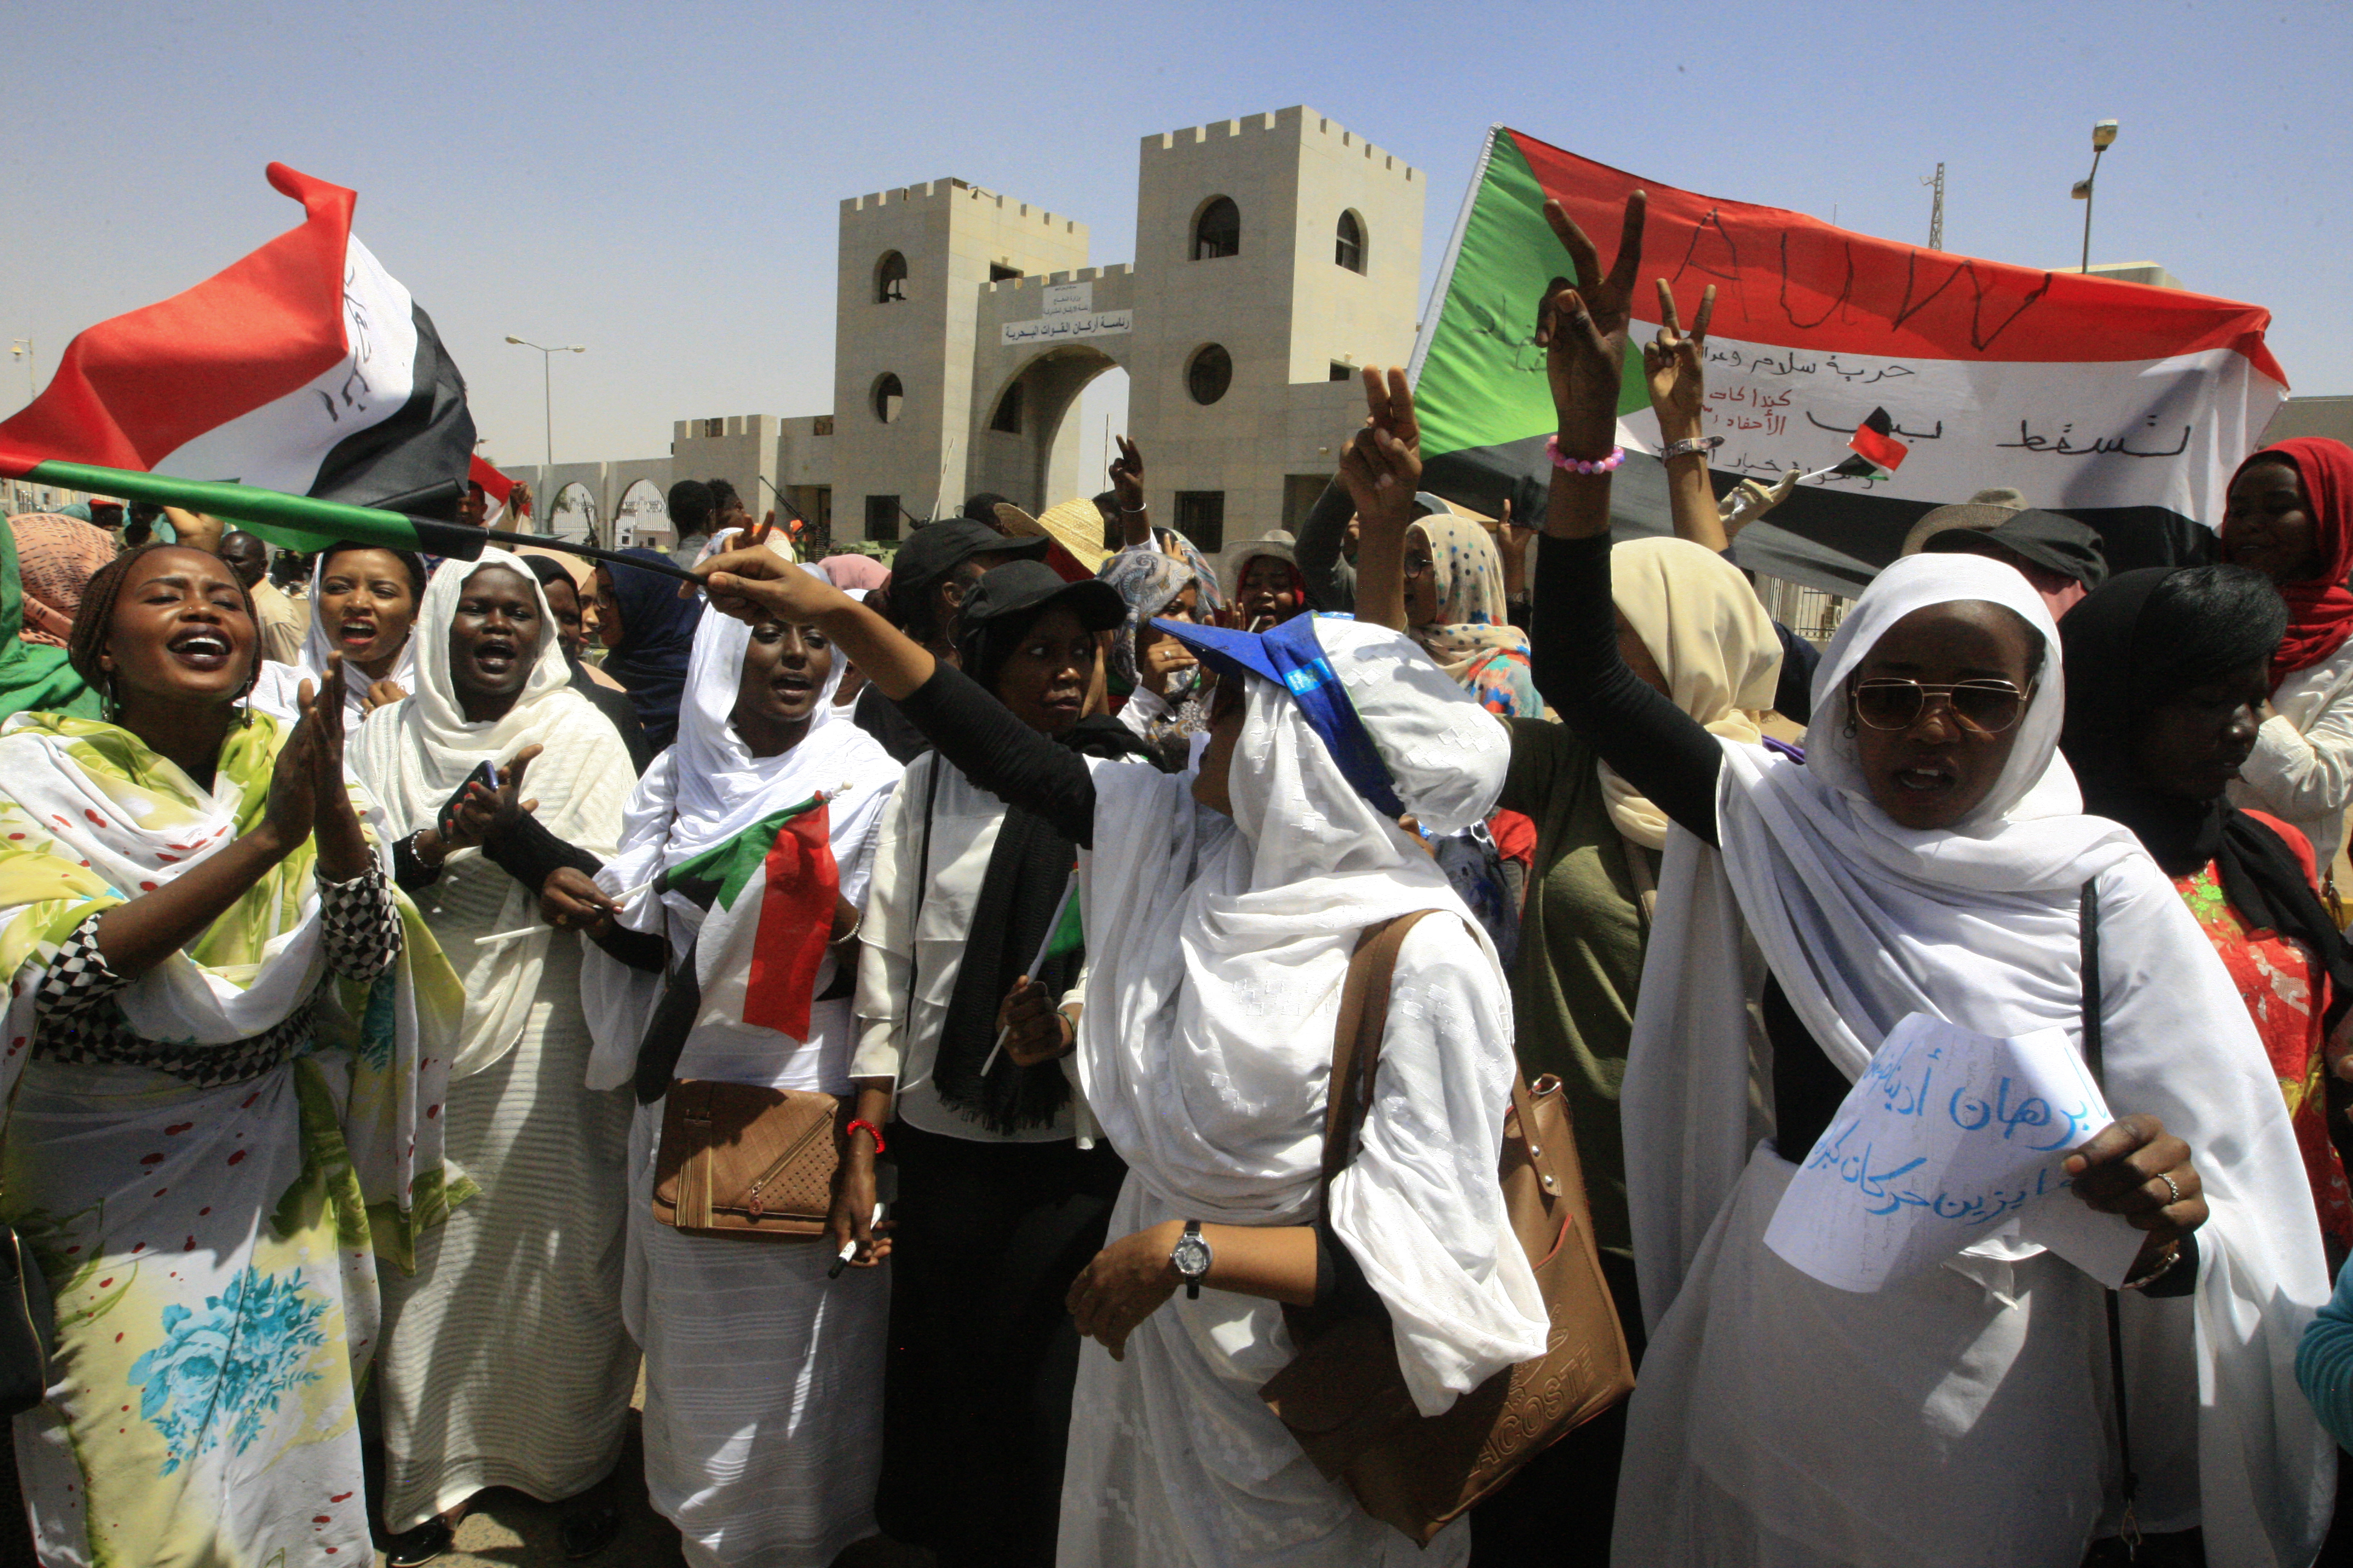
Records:
{"label": "black lower garment of woman in black cap and black scarf", "polygon": [[974,1143],[904,1121],[889,1154],[875,1514],[944,1568],[1052,1563],[1078,1382],[1064,1298],[1104,1248],[1127,1166],[1111,1145]]}

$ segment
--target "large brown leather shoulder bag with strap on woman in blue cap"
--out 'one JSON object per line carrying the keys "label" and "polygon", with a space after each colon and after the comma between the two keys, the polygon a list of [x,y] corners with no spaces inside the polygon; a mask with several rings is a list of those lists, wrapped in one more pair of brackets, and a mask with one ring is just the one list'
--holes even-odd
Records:
{"label": "large brown leather shoulder bag with strap on woman in blue cap", "polygon": [[[1348,961],[1325,1110],[1327,1201],[1372,1103],[1398,947],[1433,912],[1372,926]],[[1560,1079],[1546,1074],[1529,1088],[1513,1074],[1499,1180],[1513,1237],[1537,1269],[1553,1319],[1544,1356],[1497,1373],[1445,1415],[1424,1418],[1405,1389],[1386,1319],[1332,1321],[1287,1307],[1292,1340],[1304,1349],[1259,1389],[1315,1469],[1344,1481],[1367,1514],[1421,1544],[1546,1446],[1633,1392],[1633,1359],[1593,1251]]]}

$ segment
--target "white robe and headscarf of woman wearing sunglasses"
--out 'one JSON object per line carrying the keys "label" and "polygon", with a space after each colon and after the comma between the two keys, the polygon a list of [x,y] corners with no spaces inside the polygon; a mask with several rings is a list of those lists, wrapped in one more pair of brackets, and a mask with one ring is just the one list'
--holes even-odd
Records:
{"label": "white robe and headscarf of woman wearing sunglasses", "polygon": [[[1807,764],[1727,743],[1725,849],[1680,827],[1668,839],[1624,1091],[1654,1333],[1612,1563],[2082,1559],[2115,1460],[2099,1286],[2009,1232],[1878,1295],[1769,1253],[1793,1166],[1751,1147],[1746,994],[1722,954],[1751,931],[1847,1077],[1915,1011],[1981,1034],[2080,1037],[2078,891],[2092,879],[2106,1098],[2191,1145],[2212,1208],[2193,1302],[2125,1302],[2139,1521],[2202,1526],[2217,1568],[2301,1566],[2334,1465],[2294,1387],[2294,1347],[2327,1279],[2268,1060],[2172,884],[2122,827],[2080,816],[2040,599],[1993,562],[1915,559],[1873,583],[1824,658]],[[1986,804],[1913,832],[1868,802],[1842,684],[1887,625],[1951,599],[2007,604],[2054,656]]]}

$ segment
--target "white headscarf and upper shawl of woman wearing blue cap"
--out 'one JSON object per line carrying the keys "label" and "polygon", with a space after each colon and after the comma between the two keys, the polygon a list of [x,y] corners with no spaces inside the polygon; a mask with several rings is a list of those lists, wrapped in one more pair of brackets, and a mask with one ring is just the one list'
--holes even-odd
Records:
{"label": "white headscarf and upper shawl of woman wearing blue cap", "polygon": [[[1315,632],[1407,811],[1428,832],[1482,820],[1511,762],[1504,726],[1400,632],[1337,618],[1318,618]],[[1367,1126],[1332,1185],[1332,1220],[1388,1302],[1426,1408],[1445,1408],[1438,1387],[1471,1387],[1480,1368],[1537,1354],[1544,1305],[1494,1182],[1511,1001],[1494,945],[1447,875],[1348,785],[1289,691],[1254,675],[1231,820],[1193,802],[1191,773],[1096,764],[1094,780],[1078,1060],[1129,1173],[1205,1220],[1304,1222],[1348,957],[1365,926],[1442,910],[1428,926],[1475,943],[1457,945],[1473,957],[1447,973],[1459,994],[1400,1004],[1384,1053],[1384,1072],[1405,1074],[1384,1081],[1433,1088],[1414,1107],[1414,1171],[1393,1166]],[[1435,1077],[1412,1077],[1421,1070]]]}

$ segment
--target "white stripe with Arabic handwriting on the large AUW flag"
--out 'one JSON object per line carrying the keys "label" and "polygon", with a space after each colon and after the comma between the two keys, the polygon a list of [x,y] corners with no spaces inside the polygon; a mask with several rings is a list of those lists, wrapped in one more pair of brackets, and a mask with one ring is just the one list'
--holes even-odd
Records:
{"label": "white stripe with Arabic handwriting on the large AUW flag", "polygon": [[[1647,341],[1657,327],[1635,324]],[[1911,449],[1889,480],[1828,480],[1899,501],[1967,501],[2007,484],[2026,505],[2078,510],[2158,505],[2221,522],[2231,470],[2261,440],[2287,388],[2245,355],[2209,348],[2165,360],[1984,362],[1878,360],[1708,339],[1711,468],[1779,475],[1828,468],[1873,409]],[[1631,447],[1659,449],[1642,409],[1621,423]]]}

